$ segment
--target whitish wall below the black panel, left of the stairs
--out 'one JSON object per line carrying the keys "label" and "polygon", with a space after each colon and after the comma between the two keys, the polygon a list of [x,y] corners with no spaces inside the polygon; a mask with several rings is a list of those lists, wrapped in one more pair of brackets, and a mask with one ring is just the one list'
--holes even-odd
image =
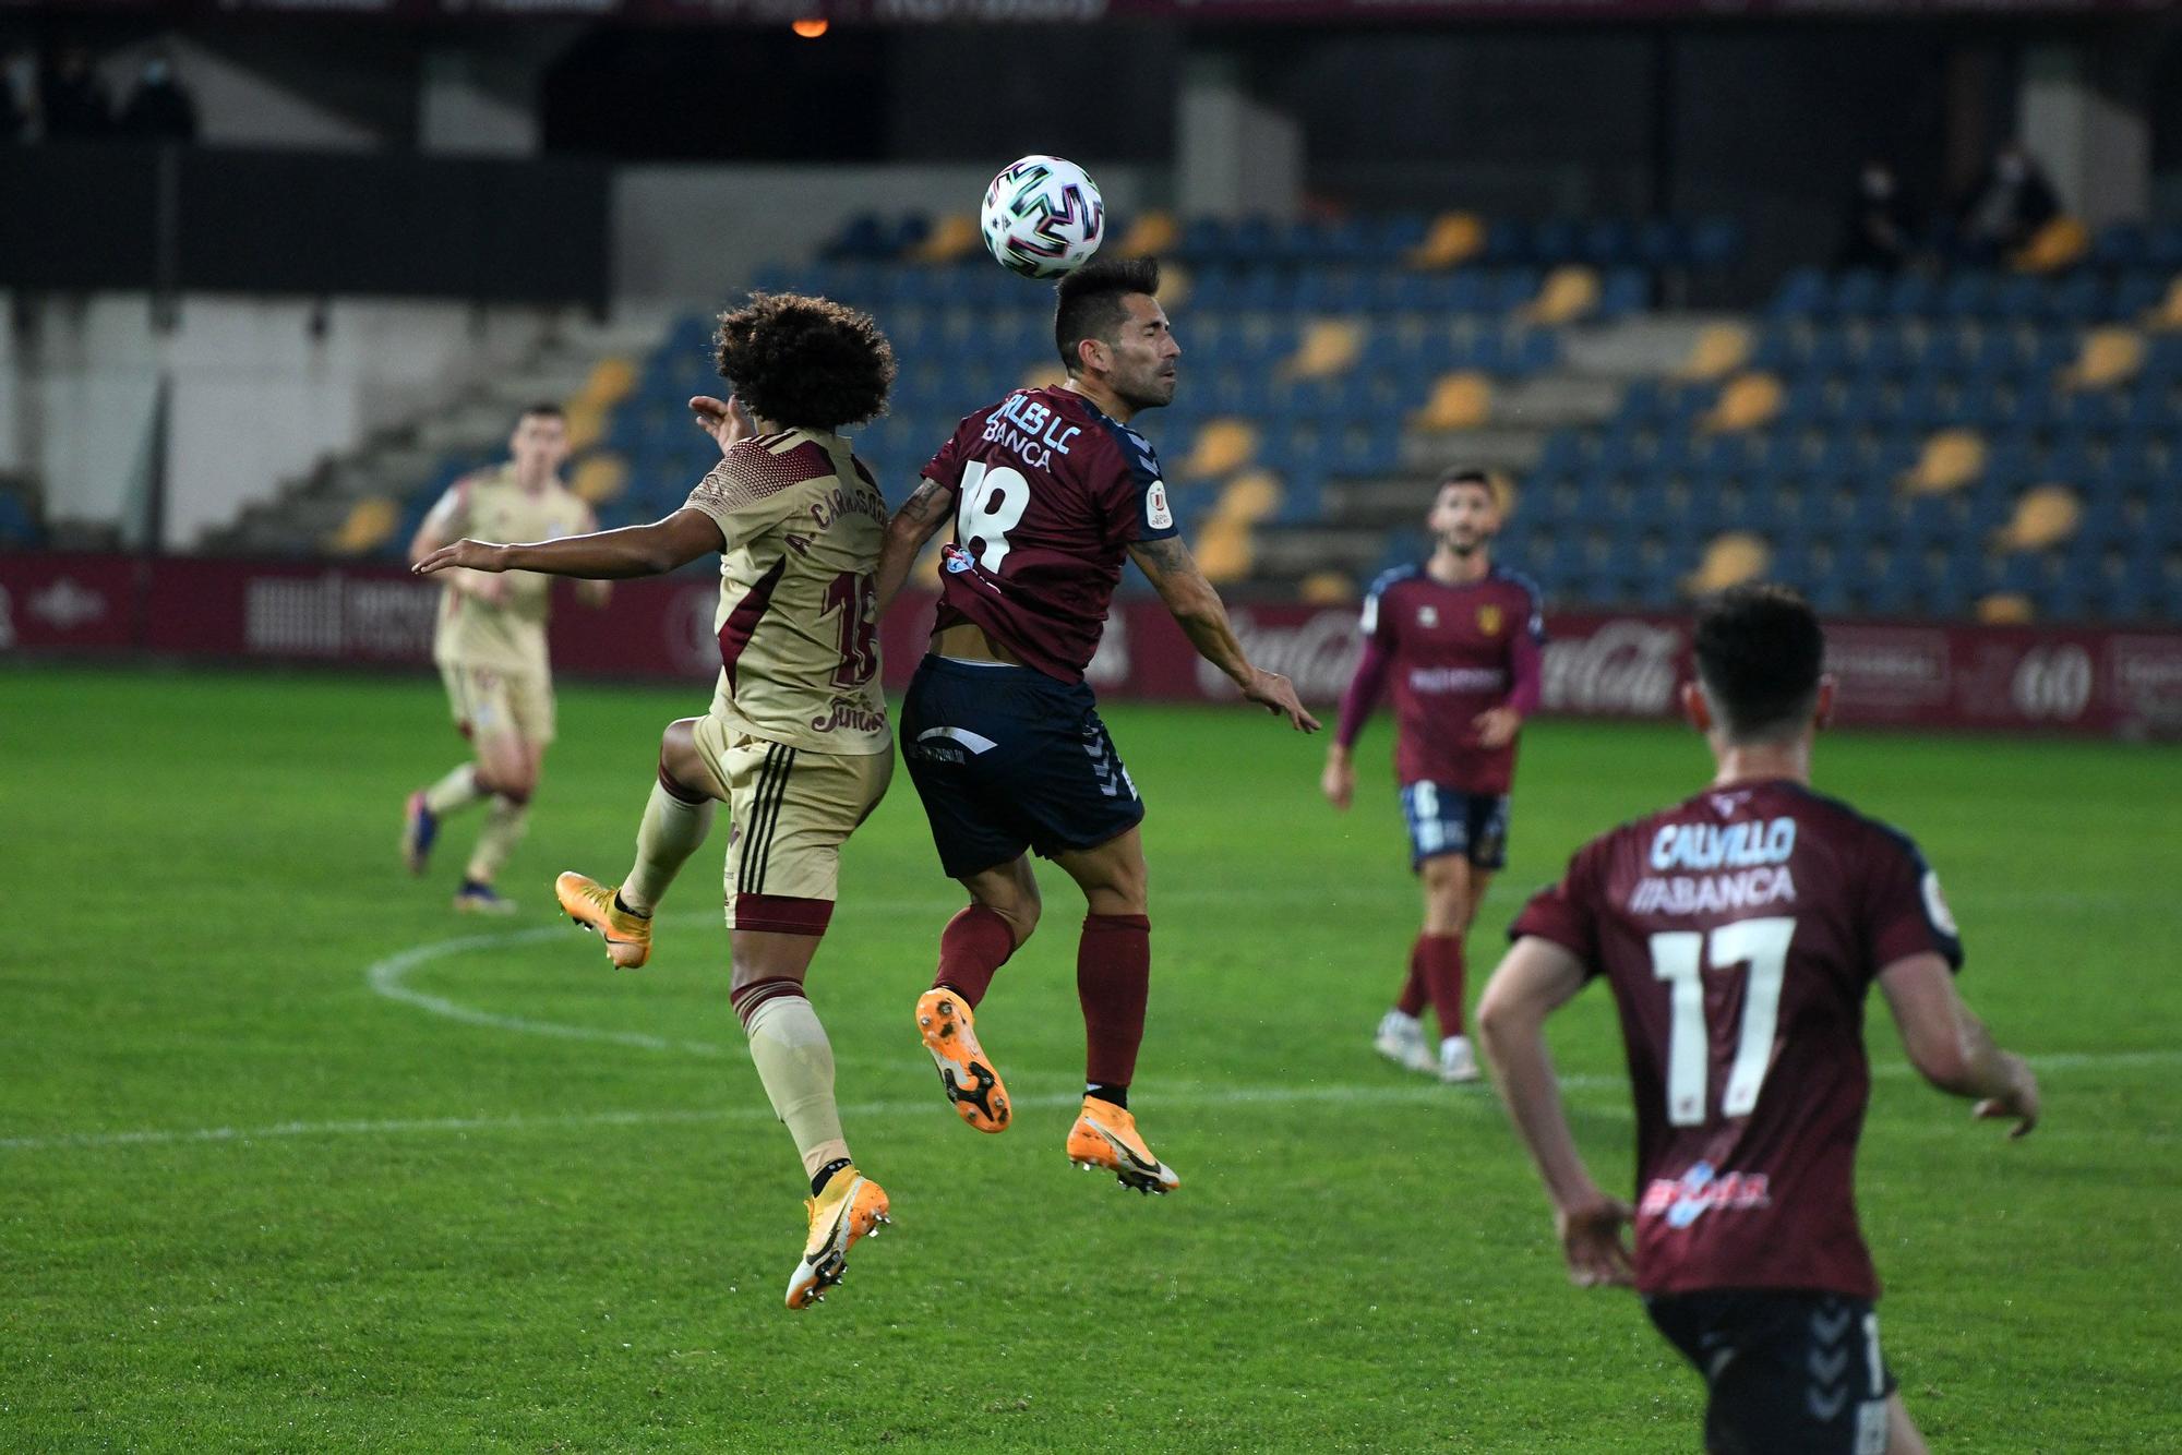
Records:
{"label": "whitish wall below the black panel, left of the stairs", "polygon": [[[46,489],[57,521],[122,515],[157,380],[172,380],[166,545],[188,548],[373,430],[415,419],[526,356],[552,310],[190,294],[153,327],[144,294],[39,301],[0,351],[0,469]],[[13,323],[7,325],[13,334]]]}

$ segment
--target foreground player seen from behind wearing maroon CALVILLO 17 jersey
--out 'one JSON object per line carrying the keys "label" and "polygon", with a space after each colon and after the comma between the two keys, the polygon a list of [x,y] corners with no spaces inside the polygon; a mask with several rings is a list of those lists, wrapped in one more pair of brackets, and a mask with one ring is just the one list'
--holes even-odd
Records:
{"label": "foreground player seen from behind wearing maroon CALVILLO 17 jersey", "polygon": [[[1704,1374],[1709,1451],[1925,1448],[1879,1357],[1853,1195],[1870,984],[1925,1080],[2014,1137],[2038,1121],[2029,1067],[1955,993],[1962,945],[1916,844],[1809,787],[1833,698],[1822,657],[1818,617],[1785,589],[1704,609],[1682,705],[1711,787],[1580,849],[1516,916],[1477,1008],[1571,1278],[1636,1285]],[[1634,1209],[1591,1180],[1545,1051],[1545,1017],[1593,975],[1621,1012]]]}

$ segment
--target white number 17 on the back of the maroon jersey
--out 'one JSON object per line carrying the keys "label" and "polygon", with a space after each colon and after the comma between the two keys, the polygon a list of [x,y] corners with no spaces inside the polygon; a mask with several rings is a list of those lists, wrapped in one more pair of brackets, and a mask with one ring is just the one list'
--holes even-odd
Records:
{"label": "white number 17 on the back of the maroon jersey", "polygon": [[[1706,938],[1711,951],[1706,951]],[[1719,1097],[1722,1117],[1748,1117],[1759,1104],[1759,1084],[1772,1065],[1774,1027],[1781,1021],[1781,977],[1787,973],[1787,945],[1796,938],[1796,921],[1757,918],[1719,925],[1711,936],[1674,931],[1652,936],[1652,975],[1671,986],[1671,1030],[1667,1034],[1667,1121],[1702,1126],[1709,1089],[1706,1065],[1713,1060],[1704,1027],[1704,960],[1726,971],[1750,966],[1743,982],[1743,1025],[1735,1041],[1735,1065],[1728,1089]]]}

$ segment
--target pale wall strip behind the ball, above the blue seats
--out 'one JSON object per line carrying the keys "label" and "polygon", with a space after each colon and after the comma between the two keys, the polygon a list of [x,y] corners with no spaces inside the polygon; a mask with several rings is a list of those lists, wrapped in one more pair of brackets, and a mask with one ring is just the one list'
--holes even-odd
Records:
{"label": "pale wall strip behind the ball, above the blue seats", "polygon": [[[1002,159],[1006,161],[1006,157]],[[1106,207],[1141,212],[1152,168],[1098,166]],[[768,262],[801,262],[860,212],[978,212],[995,166],[628,166],[613,183],[613,294],[722,301]]]}

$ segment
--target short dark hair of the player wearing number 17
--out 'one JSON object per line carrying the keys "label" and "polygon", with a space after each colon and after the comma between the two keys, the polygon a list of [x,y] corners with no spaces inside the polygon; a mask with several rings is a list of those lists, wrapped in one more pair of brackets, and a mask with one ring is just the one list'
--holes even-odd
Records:
{"label": "short dark hair of the player wearing number 17", "polygon": [[1728,739],[1796,731],[1818,702],[1826,633],[1787,587],[1728,587],[1698,611],[1698,681]]}

